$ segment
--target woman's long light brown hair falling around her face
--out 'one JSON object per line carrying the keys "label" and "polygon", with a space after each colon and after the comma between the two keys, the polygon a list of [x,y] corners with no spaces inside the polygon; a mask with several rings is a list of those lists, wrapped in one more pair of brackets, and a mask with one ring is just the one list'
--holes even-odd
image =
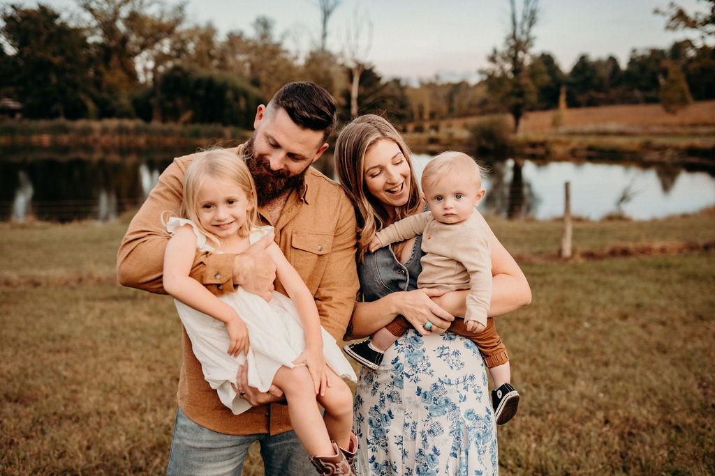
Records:
{"label": "woman's long light brown hair falling around her face", "polygon": [[335,170],[340,185],[355,206],[355,216],[358,218],[358,260],[363,259],[368,249],[368,240],[375,232],[382,230],[389,219],[383,203],[368,193],[364,183],[365,153],[380,139],[395,141],[410,166],[409,198],[405,205],[395,207],[394,220],[414,215],[423,208],[415,169],[410,160],[410,148],[393,125],[375,114],[360,116],[347,124],[335,142]]}

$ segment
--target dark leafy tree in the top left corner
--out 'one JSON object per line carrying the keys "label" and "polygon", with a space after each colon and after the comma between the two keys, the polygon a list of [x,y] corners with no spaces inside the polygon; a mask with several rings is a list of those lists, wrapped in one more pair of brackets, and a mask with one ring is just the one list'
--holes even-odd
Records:
{"label": "dark leafy tree in the top left corner", "polygon": [[[48,6],[4,11],[0,29],[13,50],[0,67],[29,118],[82,118],[94,111],[94,49],[82,29],[60,20]],[[7,83],[4,83],[7,84]],[[6,86],[7,88],[7,86]]]}

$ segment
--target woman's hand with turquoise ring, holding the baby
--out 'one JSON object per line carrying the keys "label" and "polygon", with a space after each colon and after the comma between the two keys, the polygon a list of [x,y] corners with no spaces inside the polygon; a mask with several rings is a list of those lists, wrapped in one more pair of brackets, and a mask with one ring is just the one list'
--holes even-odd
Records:
{"label": "woman's hand with turquoise ring, holding the baby", "polygon": [[[393,293],[398,300],[397,311],[422,335],[441,334],[447,330],[454,316],[433,302],[433,297],[443,295],[444,290],[425,288]],[[425,324],[429,329],[425,329]]]}

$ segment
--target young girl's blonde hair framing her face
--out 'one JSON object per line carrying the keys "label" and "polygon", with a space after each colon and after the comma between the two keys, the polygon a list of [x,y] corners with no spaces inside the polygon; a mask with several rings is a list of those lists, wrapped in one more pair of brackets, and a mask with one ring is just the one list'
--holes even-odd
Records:
{"label": "young girl's blonde hair framing her face", "polygon": [[197,154],[184,173],[184,196],[181,204],[181,216],[193,221],[210,240],[221,244],[218,236],[204,228],[199,221],[199,191],[207,178],[218,178],[234,183],[246,194],[250,208],[246,212],[246,221],[238,233],[247,236],[251,228],[260,226],[258,221],[258,201],[256,186],[248,167],[240,156],[225,149],[211,149]]}

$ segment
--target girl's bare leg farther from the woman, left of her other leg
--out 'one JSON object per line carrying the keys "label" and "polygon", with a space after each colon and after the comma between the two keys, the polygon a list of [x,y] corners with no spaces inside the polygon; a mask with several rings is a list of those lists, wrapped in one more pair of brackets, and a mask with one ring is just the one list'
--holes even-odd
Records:
{"label": "girl's bare leg farther from the woman, left of her other leg", "polygon": [[275,373],[273,383],[285,393],[290,423],[308,454],[332,455],[335,450],[317,407],[313,381],[308,368],[305,365],[297,365],[294,368],[281,367]]}

